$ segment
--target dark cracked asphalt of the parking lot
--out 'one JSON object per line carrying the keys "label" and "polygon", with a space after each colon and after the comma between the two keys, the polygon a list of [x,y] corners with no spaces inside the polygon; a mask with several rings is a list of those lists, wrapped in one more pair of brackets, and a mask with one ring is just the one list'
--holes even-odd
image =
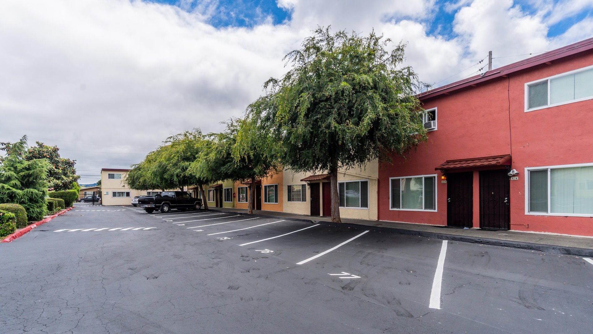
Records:
{"label": "dark cracked asphalt of the parking lot", "polygon": [[593,328],[593,264],[579,257],[449,241],[437,309],[441,240],[251,218],[77,204],[0,244],[0,333]]}

